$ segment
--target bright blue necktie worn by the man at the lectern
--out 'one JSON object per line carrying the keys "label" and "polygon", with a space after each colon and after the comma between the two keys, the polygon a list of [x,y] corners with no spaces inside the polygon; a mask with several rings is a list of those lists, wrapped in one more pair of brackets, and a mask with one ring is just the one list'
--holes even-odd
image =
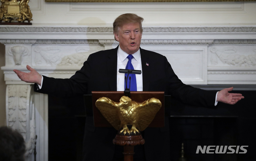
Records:
{"label": "bright blue necktie worn by the man at the lectern", "polygon": [[[129,59],[128,60],[128,63],[125,67],[125,69],[132,69],[134,70],[133,66],[132,66],[132,58],[133,56],[132,55],[128,55],[127,58]],[[129,74],[129,78],[131,77],[131,87],[130,87],[130,79],[127,78],[127,75],[128,74],[125,74],[126,76],[126,79],[127,79],[127,88],[130,88],[130,91],[137,91],[137,84],[136,84],[136,76],[135,74]],[[126,88],[126,83],[124,82],[124,89]]]}

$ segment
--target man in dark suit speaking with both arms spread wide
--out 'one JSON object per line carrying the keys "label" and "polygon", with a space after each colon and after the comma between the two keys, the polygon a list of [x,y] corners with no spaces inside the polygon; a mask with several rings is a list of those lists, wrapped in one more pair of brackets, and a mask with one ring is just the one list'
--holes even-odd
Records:
{"label": "man in dark suit speaking with both arms spread wide", "polygon": [[[235,104],[244,98],[242,94],[229,93],[232,88],[216,93],[183,84],[175,75],[166,57],[140,48],[142,21],[143,18],[136,14],[123,14],[116,18],[113,30],[119,46],[116,49],[91,54],[84,62],[84,66],[70,79],[41,76],[29,66],[27,69],[31,71],[30,73],[18,70],[14,72],[22,81],[36,83],[36,92],[59,97],[90,94],[92,91],[124,90],[124,74],[118,73],[118,70],[124,69],[128,62],[126,57],[133,55],[131,63],[134,69],[142,70],[142,75],[136,75],[138,91],[164,91],[166,95],[170,94],[186,104],[195,106],[214,106],[218,101]],[[168,134],[168,124],[165,128],[150,132],[146,129],[144,138],[148,144],[145,144],[144,148],[138,146],[135,149],[138,153],[135,153],[134,160],[170,160]],[[120,149],[112,144],[115,135],[114,128],[95,128],[92,118],[86,118],[84,160],[114,161],[122,158]],[[154,146],[158,143],[166,144],[160,147]],[[137,154],[142,155],[136,156]]]}

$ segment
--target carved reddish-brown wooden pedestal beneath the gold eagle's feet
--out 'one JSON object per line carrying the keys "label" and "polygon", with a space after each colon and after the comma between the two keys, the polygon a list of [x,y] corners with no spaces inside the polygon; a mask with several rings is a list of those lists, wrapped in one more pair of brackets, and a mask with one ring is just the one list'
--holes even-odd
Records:
{"label": "carved reddish-brown wooden pedestal beneath the gold eagle's feet", "polygon": [[145,140],[142,135],[116,135],[113,139],[113,143],[116,145],[124,146],[124,161],[133,161],[134,146],[143,145]]}

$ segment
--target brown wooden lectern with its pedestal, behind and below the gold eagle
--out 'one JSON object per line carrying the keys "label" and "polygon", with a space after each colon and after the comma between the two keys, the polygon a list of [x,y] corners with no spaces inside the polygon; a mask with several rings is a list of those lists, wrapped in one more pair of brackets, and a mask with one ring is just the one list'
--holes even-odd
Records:
{"label": "brown wooden lectern with its pedestal, behind and below the gold eagle", "polygon": [[[92,96],[85,96],[85,104],[87,104],[86,114],[91,115],[93,113],[94,117],[94,126],[95,127],[112,127],[111,124],[104,118],[100,110],[95,105],[96,100],[101,97],[107,97],[115,102],[120,102],[120,98],[124,96],[124,92],[100,92],[93,91]],[[160,128],[164,127],[164,92],[130,92],[130,98],[136,102],[144,102],[150,98],[157,98],[162,102],[162,107],[156,113],[155,118],[150,123],[148,127]],[[90,99],[92,99],[92,104],[90,104]],[[88,108],[92,106],[93,111]],[[113,138],[113,143],[116,145],[124,146],[124,161],[133,161],[134,146],[143,145],[145,143],[142,135],[116,135]]]}

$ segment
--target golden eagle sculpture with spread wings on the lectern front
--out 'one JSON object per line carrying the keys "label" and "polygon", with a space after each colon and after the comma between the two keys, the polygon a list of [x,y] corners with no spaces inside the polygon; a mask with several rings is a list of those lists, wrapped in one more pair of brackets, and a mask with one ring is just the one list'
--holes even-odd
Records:
{"label": "golden eagle sculpture with spread wings on the lectern front", "polygon": [[[125,135],[145,130],[161,108],[162,103],[157,98],[150,98],[139,103],[127,96],[122,96],[120,102],[101,97],[95,105],[116,130],[123,128],[120,134]],[[127,125],[132,125],[132,128],[129,130]]]}

